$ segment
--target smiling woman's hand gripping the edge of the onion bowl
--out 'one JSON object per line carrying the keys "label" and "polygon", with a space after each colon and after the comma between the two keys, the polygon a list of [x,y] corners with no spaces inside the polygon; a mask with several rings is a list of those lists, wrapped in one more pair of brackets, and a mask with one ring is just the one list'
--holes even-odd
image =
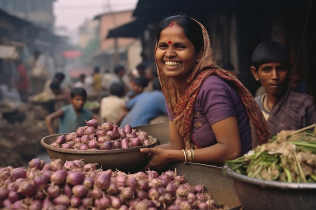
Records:
{"label": "smiling woman's hand gripping the edge of the onion bowl", "polygon": [[[169,154],[170,150],[165,150],[162,148],[141,148],[141,153],[151,154],[151,159],[149,163],[144,167],[144,170],[148,169],[162,169],[168,163],[173,160],[170,158]],[[175,150],[173,150],[175,152]]]}

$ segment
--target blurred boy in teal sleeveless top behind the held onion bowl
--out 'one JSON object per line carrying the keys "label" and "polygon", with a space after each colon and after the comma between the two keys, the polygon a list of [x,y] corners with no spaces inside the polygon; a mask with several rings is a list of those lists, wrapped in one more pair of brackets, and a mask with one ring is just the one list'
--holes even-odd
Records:
{"label": "blurred boy in teal sleeveless top behind the held onion bowl", "polygon": [[78,127],[86,125],[85,120],[98,119],[99,123],[103,123],[101,117],[83,108],[87,99],[87,93],[83,88],[72,89],[70,97],[71,104],[63,106],[45,117],[45,123],[50,134],[55,134],[52,121],[57,118],[60,119],[58,133],[74,132]]}

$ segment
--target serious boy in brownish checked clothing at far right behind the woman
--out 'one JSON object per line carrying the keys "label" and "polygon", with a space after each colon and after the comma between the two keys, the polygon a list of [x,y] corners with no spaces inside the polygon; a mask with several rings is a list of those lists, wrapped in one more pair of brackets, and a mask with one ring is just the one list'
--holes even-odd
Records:
{"label": "serious boy in brownish checked clothing at far right behind the woman", "polygon": [[289,89],[290,54],[285,45],[262,42],[252,55],[250,71],[266,94],[256,97],[272,134],[297,130],[316,122],[313,99]]}

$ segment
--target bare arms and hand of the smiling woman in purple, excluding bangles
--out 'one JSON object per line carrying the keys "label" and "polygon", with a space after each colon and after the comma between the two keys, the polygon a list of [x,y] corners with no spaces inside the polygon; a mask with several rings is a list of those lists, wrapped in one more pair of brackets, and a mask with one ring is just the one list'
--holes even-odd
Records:
{"label": "bare arms and hand of the smiling woman in purple, excluding bangles", "polygon": [[[152,155],[145,169],[151,167],[161,169],[170,162],[185,161],[184,153],[181,150],[184,149],[183,140],[180,143],[180,134],[174,130],[175,124],[172,121],[169,122],[170,125],[170,144],[140,149],[140,152]],[[212,129],[218,143],[213,146],[194,150],[195,162],[222,165],[225,160],[239,157],[241,154],[241,141],[236,117],[220,120],[212,125]]]}

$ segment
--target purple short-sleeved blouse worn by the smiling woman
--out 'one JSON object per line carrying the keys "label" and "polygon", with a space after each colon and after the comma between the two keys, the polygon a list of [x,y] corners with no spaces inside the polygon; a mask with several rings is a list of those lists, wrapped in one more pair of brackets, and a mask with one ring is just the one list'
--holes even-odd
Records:
{"label": "purple short-sleeved blouse worn by the smiling woman", "polygon": [[[173,121],[168,106],[167,112]],[[217,141],[210,125],[228,117],[237,118],[243,155],[251,149],[251,130],[245,107],[229,81],[211,75],[203,83],[194,104],[192,141],[200,148],[215,145]]]}

